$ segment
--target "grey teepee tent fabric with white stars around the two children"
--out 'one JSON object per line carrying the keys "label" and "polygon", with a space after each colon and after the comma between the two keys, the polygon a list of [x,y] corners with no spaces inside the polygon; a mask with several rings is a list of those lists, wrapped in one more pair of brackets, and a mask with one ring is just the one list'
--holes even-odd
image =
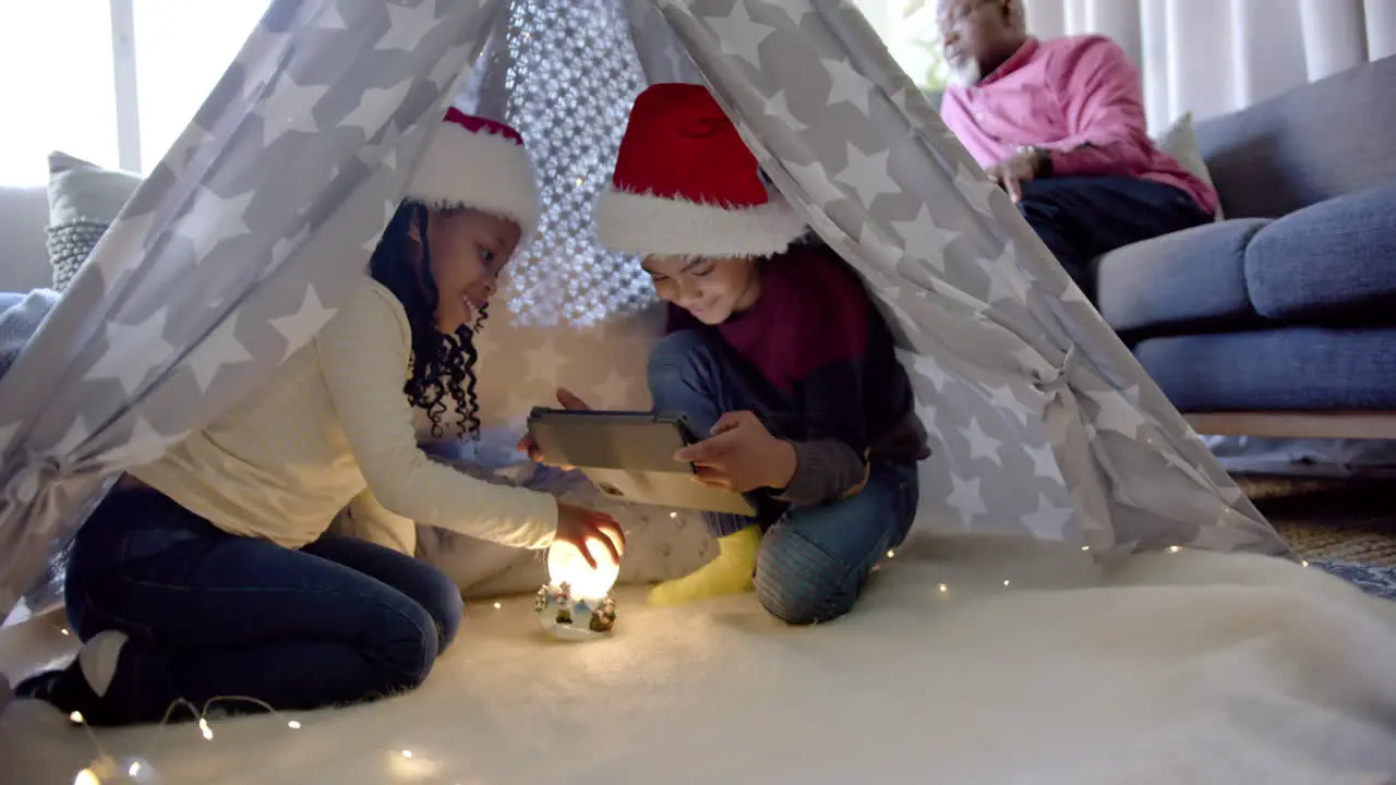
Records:
{"label": "grey teepee tent fabric with white stars around the two children", "polygon": [[[550,18],[582,35],[549,36]],[[609,75],[623,89],[537,101],[521,87],[584,82],[589,46],[631,59]],[[623,96],[642,87],[627,74],[705,81],[867,281],[937,437],[924,525],[1101,559],[1175,545],[1293,557],[850,3],[276,0],[0,379],[0,609],[114,475],[204,427],[334,316],[458,95],[521,126],[549,179],[551,223],[500,323],[641,318],[639,286],[588,233]],[[578,119],[591,147],[567,144]],[[635,352],[588,345],[597,380]]]}

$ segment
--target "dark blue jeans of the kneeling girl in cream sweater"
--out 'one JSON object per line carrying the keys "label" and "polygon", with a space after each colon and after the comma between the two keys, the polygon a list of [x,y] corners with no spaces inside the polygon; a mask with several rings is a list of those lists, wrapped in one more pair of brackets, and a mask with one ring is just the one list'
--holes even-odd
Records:
{"label": "dark blue jeans of the kneeling girl in cream sweater", "polygon": [[114,724],[159,721],[179,698],[309,710],[409,690],[463,608],[410,556],[334,534],[300,550],[235,536],[149,489],[113,490],[78,529],[66,599],[82,640],[130,636],[103,698]]}

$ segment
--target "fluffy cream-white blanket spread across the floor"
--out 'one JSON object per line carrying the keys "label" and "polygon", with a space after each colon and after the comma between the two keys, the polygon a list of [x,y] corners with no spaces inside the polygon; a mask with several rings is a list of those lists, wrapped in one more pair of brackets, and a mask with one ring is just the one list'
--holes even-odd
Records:
{"label": "fluffy cream-white blanket spread across the floor", "polygon": [[[174,785],[1376,785],[1396,772],[1396,605],[1279,560],[1154,555],[1106,578],[1081,553],[921,539],[856,615],[812,629],[780,627],[751,598],[649,609],[623,595],[613,640],[560,644],[530,610],[472,606],[410,696],[215,721],[212,740],[193,725],[102,739]],[[91,744],[59,719],[28,701],[0,717],[6,781],[71,781]]]}

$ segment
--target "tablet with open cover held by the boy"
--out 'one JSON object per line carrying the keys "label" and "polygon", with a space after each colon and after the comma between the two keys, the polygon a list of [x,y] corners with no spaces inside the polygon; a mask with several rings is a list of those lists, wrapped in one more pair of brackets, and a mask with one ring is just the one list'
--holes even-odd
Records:
{"label": "tablet with open cover held by the boy", "polygon": [[755,515],[747,497],[694,480],[674,453],[698,441],[681,416],[537,408],[529,433],[550,464],[577,467],[614,499],[706,513]]}

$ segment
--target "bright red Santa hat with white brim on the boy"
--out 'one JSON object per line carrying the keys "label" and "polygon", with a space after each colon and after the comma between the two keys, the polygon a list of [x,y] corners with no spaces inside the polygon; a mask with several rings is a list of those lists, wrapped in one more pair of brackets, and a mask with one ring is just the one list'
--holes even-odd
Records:
{"label": "bright red Santa hat with white brim on the boy", "polygon": [[635,99],[595,219],[603,246],[656,256],[769,256],[805,233],[718,101],[692,84]]}

